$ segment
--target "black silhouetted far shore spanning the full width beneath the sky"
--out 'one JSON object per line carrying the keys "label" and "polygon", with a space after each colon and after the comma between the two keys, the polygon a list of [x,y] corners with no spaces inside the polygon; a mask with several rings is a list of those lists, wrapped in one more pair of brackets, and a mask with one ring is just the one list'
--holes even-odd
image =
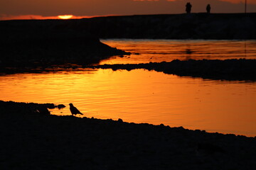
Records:
{"label": "black silhouetted far shore spanning the full width beneath the sky", "polygon": [[[253,39],[256,13],[183,13],[0,21],[0,72],[97,64],[129,55],[99,38]],[[12,69],[12,71],[10,71]]]}

